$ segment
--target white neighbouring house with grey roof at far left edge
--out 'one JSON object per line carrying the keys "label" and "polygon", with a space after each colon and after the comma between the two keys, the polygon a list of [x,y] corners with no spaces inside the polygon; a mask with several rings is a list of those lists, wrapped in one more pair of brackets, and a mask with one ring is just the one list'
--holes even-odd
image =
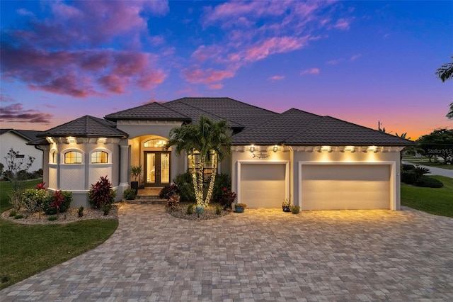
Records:
{"label": "white neighbouring house with grey roof at far left edge", "polygon": [[28,172],[42,169],[42,150],[39,147],[27,145],[28,142],[36,140],[36,135],[39,133],[40,131],[35,130],[0,129],[0,162],[4,164],[4,171],[8,169],[5,157],[11,148],[18,151],[20,156],[35,157]]}

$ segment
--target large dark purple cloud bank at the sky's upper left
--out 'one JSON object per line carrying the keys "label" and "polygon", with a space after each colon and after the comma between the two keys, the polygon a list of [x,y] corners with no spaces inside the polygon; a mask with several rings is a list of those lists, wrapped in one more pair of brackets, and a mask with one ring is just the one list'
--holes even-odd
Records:
{"label": "large dark purple cloud bank at the sky's upper left", "polygon": [[49,18],[21,11],[29,17],[28,26],[2,31],[0,65],[5,79],[25,82],[31,89],[86,97],[122,94],[129,86],[151,89],[166,78],[156,67],[157,55],[101,48],[124,35],[129,41],[139,41],[139,35],[147,31],[142,13],[164,14],[166,2],[57,1],[45,5],[52,11]]}

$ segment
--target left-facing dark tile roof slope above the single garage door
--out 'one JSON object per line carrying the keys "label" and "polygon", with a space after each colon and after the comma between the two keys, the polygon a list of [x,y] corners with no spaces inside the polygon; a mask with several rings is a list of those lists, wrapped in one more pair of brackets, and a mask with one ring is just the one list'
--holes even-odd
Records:
{"label": "left-facing dark tile roof slope above the single garage door", "polygon": [[309,128],[321,120],[321,118],[322,116],[292,108],[284,113],[280,113],[270,121],[266,121],[257,127],[248,128],[234,135],[233,143],[253,143],[256,145],[282,144],[294,135],[294,133],[302,132],[305,128]]}

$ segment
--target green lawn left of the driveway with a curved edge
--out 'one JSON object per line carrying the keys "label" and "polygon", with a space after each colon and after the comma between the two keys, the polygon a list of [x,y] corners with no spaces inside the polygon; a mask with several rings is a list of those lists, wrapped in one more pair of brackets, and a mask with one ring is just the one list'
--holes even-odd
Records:
{"label": "green lawn left of the driveway with a curved edge", "polygon": [[[41,180],[28,181],[33,188]],[[11,208],[11,184],[0,183],[1,211]],[[118,220],[81,220],[63,225],[21,225],[0,219],[0,289],[101,245]]]}

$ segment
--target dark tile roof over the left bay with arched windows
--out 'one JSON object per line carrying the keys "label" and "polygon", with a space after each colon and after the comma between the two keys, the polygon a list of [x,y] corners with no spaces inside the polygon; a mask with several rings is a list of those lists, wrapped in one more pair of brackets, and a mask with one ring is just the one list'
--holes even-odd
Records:
{"label": "dark tile roof over the left bay with arched windows", "polygon": [[95,118],[94,116],[82,116],[74,121],[64,123],[50,130],[42,131],[38,137],[45,138],[76,136],[79,138],[127,138],[127,133],[118,130],[116,124]]}

